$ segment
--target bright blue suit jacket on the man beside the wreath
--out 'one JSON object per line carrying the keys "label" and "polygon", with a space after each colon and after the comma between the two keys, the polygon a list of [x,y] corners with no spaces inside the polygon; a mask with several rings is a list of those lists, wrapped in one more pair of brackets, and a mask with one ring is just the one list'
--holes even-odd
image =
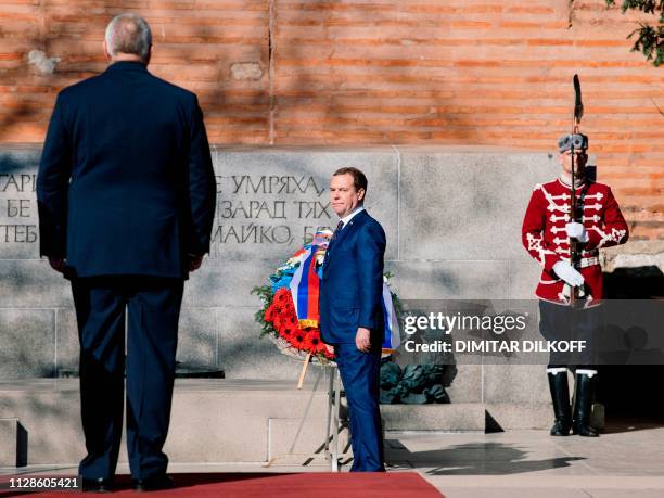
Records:
{"label": "bright blue suit jacket on the man beside the wreath", "polygon": [[355,215],[330,243],[320,284],[320,333],[328,344],[355,343],[359,327],[371,343],[383,343],[385,232],[366,210]]}

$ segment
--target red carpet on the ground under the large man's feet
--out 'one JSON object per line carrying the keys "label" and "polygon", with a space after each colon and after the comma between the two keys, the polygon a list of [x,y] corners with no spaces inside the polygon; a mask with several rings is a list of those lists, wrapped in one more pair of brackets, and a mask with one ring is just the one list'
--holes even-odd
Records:
{"label": "red carpet on the ground under the large man's feet", "polygon": [[[44,475],[40,475],[44,477]],[[26,477],[22,475],[21,477]],[[128,475],[117,477],[117,490],[114,497],[159,496],[159,497],[232,497],[232,498],[440,498],[443,495],[416,472],[394,473],[331,473],[310,472],[302,474],[174,474],[176,488],[167,491],[137,494],[131,489]],[[0,477],[0,483],[8,483],[9,476]],[[7,484],[5,484],[7,486]],[[7,489],[7,488],[4,488]],[[103,496],[86,494],[87,496]],[[36,497],[76,497],[76,493],[15,493],[0,490],[0,498],[9,496]]]}

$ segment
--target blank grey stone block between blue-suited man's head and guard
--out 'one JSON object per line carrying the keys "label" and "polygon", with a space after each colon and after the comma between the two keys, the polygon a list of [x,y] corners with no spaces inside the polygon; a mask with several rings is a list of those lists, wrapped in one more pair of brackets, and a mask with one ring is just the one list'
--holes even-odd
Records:
{"label": "blank grey stone block between blue-suited man's head and guard", "polygon": [[537,153],[400,149],[401,259],[525,259],[521,225],[535,183],[556,175]]}

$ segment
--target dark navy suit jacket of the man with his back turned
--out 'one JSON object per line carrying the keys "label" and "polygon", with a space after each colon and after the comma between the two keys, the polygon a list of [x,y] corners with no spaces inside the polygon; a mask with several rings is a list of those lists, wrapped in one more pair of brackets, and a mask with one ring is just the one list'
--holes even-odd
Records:
{"label": "dark navy suit jacket of the man with his back turned", "polygon": [[195,94],[117,62],[58,95],[37,178],[42,256],[79,277],[187,278],[215,196]]}

